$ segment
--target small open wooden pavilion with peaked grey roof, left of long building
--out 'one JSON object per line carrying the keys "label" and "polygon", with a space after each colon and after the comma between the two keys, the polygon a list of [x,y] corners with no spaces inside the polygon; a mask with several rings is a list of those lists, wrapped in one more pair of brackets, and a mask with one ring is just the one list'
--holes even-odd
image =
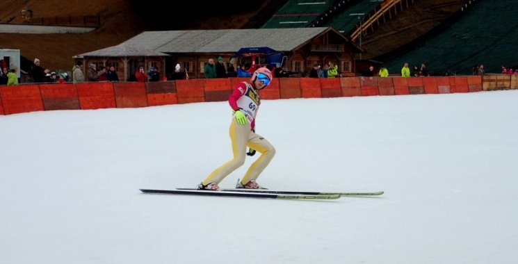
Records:
{"label": "small open wooden pavilion with peaked grey roof, left of long building", "polygon": [[113,66],[119,76],[120,81],[130,81],[138,67],[143,65],[146,72],[148,69],[158,67],[160,76],[165,76],[165,58],[168,54],[145,49],[145,47],[135,47],[128,43],[121,43],[106,49],[90,51],[74,56],[76,60],[83,60],[83,73],[86,75],[88,65],[91,63],[97,66]]}

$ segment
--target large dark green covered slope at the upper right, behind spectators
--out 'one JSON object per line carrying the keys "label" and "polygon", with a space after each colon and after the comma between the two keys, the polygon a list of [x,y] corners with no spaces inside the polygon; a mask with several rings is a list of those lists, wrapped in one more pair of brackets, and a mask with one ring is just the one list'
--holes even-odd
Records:
{"label": "large dark green covered slope at the upper right, behind spectators", "polygon": [[502,65],[518,61],[518,17],[515,8],[510,8],[515,4],[514,0],[467,1],[439,26],[444,31],[410,43],[414,47],[409,52],[385,65],[389,72],[399,72],[405,62],[426,63],[432,75],[469,75],[474,65],[483,64],[486,73],[500,73]]}

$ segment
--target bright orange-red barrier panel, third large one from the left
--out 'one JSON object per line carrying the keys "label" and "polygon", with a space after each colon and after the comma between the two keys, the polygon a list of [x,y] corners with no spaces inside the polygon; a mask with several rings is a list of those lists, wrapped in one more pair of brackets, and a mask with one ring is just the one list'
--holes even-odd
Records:
{"label": "bright orange-red barrier panel, third large one from the left", "polygon": [[78,83],[81,109],[115,108],[113,83]]}

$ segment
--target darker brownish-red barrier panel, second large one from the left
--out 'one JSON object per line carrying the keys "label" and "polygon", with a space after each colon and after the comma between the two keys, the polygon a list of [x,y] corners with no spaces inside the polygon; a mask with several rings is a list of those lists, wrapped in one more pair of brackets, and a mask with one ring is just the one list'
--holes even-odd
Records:
{"label": "darker brownish-red barrier panel, second large one from the left", "polygon": [[79,95],[72,83],[40,84],[45,110],[79,110]]}

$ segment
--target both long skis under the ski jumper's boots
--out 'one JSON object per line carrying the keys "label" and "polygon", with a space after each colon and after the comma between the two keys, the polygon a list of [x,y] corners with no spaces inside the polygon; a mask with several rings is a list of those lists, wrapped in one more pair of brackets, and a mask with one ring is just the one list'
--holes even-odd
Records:
{"label": "both long skis under the ski jumper's boots", "polygon": [[177,188],[175,190],[152,190],[140,189],[141,192],[148,194],[163,195],[204,195],[222,197],[247,197],[247,198],[267,198],[267,199],[338,199],[342,196],[378,196],[383,191],[378,192],[297,192],[268,189],[222,189],[222,190],[197,190],[195,188]]}

